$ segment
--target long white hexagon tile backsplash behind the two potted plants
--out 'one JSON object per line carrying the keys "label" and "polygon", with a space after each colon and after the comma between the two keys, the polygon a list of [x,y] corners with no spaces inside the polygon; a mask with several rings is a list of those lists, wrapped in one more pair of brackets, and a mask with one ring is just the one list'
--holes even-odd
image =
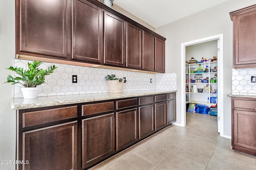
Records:
{"label": "long white hexagon tile backsplash behind the two potted plants", "polygon": [[[14,67],[27,68],[31,61],[14,59]],[[46,63],[40,68],[46,69],[50,65],[58,68],[53,74],[46,76],[46,83],[38,86],[38,96],[59,96],[70,94],[91,94],[108,92],[105,76],[116,74],[117,77],[126,77],[124,91],[136,90],[176,90],[176,73],[147,74],[104,68],[74,66],[68,64]],[[77,75],[77,83],[72,83],[72,75]],[[152,83],[150,83],[150,78]],[[14,85],[14,98],[23,98],[21,85]]]}

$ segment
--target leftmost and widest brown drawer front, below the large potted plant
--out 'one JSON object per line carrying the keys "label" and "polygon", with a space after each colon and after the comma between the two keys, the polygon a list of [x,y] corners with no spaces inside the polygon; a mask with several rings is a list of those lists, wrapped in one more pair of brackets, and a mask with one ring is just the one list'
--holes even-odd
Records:
{"label": "leftmost and widest brown drawer front, below the large potted plant", "polygon": [[77,117],[77,106],[61,107],[22,113],[22,127],[41,125]]}

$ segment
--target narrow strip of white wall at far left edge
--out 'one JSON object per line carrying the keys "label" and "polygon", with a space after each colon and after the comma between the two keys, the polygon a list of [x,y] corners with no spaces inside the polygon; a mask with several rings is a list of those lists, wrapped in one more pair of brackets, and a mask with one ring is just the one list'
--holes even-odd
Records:
{"label": "narrow strip of white wall at far left edge", "polygon": [[[0,1],[0,160],[15,160],[16,112],[10,107],[13,86],[6,82],[15,57],[15,0]],[[15,164],[0,164],[1,170],[14,170]]]}

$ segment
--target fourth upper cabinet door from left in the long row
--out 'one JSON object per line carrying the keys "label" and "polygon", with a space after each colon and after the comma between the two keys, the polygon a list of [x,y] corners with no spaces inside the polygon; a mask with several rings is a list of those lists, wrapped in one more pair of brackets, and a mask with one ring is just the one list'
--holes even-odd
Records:
{"label": "fourth upper cabinet door from left in the long row", "polygon": [[127,57],[126,66],[142,69],[142,29],[127,24]]}

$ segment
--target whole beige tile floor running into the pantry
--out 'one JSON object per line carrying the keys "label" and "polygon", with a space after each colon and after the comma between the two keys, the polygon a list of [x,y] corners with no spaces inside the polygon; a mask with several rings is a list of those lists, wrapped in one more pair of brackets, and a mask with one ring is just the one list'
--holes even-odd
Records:
{"label": "whole beige tile floor running into the pantry", "polygon": [[187,113],[187,126],[170,125],[90,170],[256,170],[256,158],[232,150],[216,116]]}

